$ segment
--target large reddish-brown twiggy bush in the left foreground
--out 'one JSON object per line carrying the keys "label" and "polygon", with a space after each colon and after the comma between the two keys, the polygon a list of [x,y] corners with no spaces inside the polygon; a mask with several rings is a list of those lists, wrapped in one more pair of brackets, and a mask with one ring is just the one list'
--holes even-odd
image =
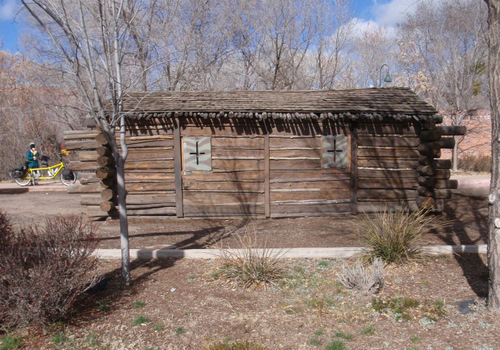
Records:
{"label": "large reddish-brown twiggy bush in the left foreground", "polygon": [[64,318],[97,281],[93,225],[54,217],[12,232],[0,213],[0,321],[6,327]]}

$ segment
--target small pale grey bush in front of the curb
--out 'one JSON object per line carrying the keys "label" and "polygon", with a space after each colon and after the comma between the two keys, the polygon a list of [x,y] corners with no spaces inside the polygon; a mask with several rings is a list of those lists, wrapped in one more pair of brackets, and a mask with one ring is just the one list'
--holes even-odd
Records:
{"label": "small pale grey bush in front of the curb", "polygon": [[375,258],[369,267],[359,259],[354,265],[343,264],[339,281],[348,289],[377,293],[384,285],[384,263]]}

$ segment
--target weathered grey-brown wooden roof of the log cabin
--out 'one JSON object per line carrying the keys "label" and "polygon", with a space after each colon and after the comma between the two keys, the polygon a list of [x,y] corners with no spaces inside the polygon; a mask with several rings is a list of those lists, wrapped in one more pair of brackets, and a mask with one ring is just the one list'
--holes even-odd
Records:
{"label": "weathered grey-brown wooden roof of the log cabin", "polygon": [[330,119],[434,119],[437,111],[409,88],[307,91],[166,91],[129,93],[131,117],[202,116]]}

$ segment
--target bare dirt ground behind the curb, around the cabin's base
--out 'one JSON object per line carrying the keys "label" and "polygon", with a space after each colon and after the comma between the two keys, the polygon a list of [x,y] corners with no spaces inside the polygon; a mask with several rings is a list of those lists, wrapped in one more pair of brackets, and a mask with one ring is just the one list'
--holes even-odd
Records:
{"label": "bare dirt ground behind the curb, around the cabin's base", "polygon": [[[80,215],[79,196],[65,192],[0,194],[0,210],[16,224],[39,223],[53,215]],[[485,244],[488,203],[485,199],[454,196],[438,225],[422,244]],[[129,220],[131,248],[175,246],[179,249],[239,246],[238,236],[251,235],[268,248],[361,246],[356,230],[359,216],[284,219],[169,219]],[[118,220],[96,223],[101,248],[120,248]]]}

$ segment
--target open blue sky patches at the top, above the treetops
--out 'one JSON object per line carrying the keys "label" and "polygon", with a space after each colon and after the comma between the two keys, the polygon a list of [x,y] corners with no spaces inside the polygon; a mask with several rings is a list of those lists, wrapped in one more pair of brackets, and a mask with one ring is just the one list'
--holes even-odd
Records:
{"label": "open blue sky patches at the top, above the treetops", "polygon": [[[418,0],[351,0],[356,27],[379,25],[389,32],[411,12]],[[18,0],[0,0],[0,50],[10,53],[22,52],[18,42],[19,25],[16,14]]]}

